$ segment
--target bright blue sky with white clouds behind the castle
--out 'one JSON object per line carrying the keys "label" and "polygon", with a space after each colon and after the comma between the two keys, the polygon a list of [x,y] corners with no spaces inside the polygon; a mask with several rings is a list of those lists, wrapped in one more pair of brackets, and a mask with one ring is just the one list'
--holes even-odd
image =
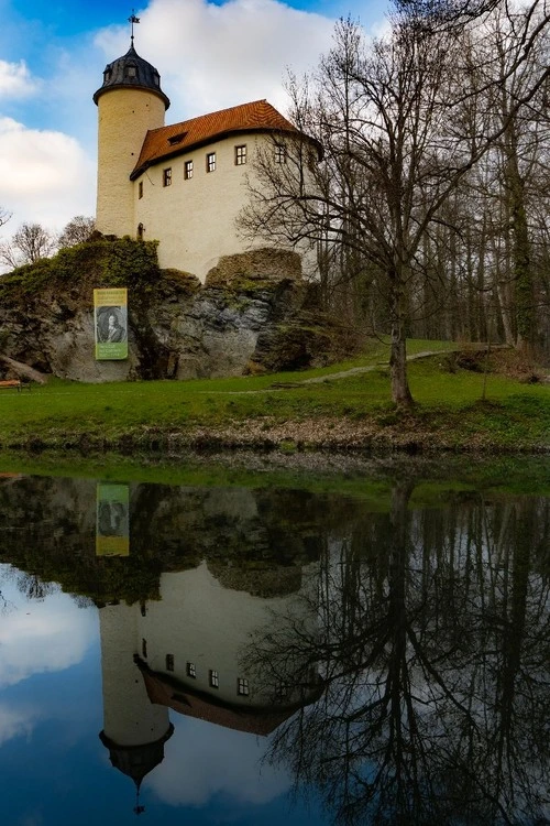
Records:
{"label": "bright blue sky with white clouds behind the castle", "polygon": [[[121,0],[0,0],[0,243],[23,222],[59,231],[96,204],[97,108],[107,63],[130,45]],[[288,69],[314,68],[334,22],[369,34],[386,0],[150,0],[135,48],[161,73],[166,123],[267,98],[285,112]]]}

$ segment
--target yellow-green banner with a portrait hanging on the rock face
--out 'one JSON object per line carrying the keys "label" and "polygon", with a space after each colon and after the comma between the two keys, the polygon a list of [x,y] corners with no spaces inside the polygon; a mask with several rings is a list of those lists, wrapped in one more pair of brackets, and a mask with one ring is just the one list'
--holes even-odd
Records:
{"label": "yellow-green banner with a portrait hanging on the rock face", "polygon": [[128,358],[128,290],[94,290],[96,359]]}

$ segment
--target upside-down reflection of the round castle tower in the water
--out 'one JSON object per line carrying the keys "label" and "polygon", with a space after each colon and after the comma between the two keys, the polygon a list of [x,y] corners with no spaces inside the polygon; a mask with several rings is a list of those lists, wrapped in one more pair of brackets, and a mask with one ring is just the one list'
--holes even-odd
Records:
{"label": "upside-down reflection of the round castle tower in the water", "polygon": [[153,705],[134,662],[139,644],[135,606],[109,605],[99,610],[103,730],[101,742],[111,763],[136,787],[164,759],[174,727],[168,709]]}

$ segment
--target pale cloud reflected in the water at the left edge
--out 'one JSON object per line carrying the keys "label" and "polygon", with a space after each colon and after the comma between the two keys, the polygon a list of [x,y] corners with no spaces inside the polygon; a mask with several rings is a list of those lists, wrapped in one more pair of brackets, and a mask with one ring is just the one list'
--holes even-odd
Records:
{"label": "pale cloud reflected in the water at the left edge", "polygon": [[[12,609],[0,623],[0,687],[33,674],[63,671],[82,660],[97,633],[90,611],[79,609],[62,593],[42,602],[26,602],[2,584],[2,594]],[[0,711],[0,738],[1,726]]]}

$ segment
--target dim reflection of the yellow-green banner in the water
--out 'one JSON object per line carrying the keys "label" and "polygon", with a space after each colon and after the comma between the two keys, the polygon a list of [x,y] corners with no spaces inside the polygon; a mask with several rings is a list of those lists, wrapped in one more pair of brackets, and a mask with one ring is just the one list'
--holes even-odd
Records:
{"label": "dim reflection of the yellow-green banner in the water", "polygon": [[96,555],[129,556],[130,488],[99,482],[97,487]]}

